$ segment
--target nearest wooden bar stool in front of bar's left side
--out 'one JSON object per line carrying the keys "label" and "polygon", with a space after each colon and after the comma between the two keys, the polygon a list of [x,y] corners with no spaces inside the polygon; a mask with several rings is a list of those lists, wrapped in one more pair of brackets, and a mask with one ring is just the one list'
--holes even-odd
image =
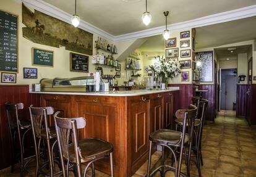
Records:
{"label": "nearest wooden bar stool in front of bar's left side", "polygon": [[[95,176],[95,168],[93,162],[102,158],[110,158],[111,177],[114,177],[113,166],[113,146],[107,141],[97,138],[85,138],[78,141],[77,129],[85,128],[85,118],[60,118],[56,112],[54,121],[59,146],[59,156],[61,157],[61,165],[63,176],[68,176],[69,162],[77,167],[77,176],[82,177],[81,163],[87,163],[83,172],[83,177],[87,175],[87,170],[92,165],[92,176]],[[72,145],[69,145],[69,136],[72,134]],[[67,165],[64,164],[67,160]],[[65,167],[67,166],[67,168]],[[64,170],[66,169],[66,170]],[[66,172],[65,172],[66,171]]]}

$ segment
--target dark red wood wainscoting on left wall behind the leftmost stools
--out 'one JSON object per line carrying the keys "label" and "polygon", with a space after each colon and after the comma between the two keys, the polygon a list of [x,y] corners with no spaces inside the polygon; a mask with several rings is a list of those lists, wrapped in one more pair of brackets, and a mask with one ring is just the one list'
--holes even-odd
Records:
{"label": "dark red wood wainscoting on left wall behind the leftmost stools", "polygon": [[0,169],[9,167],[11,163],[9,126],[4,107],[6,102],[23,102],[25,109],[20,110],[19,116],[21,119],[29,118],[27,107],[30,104],[40,105],[40,95],[29,94],[28,85],[0,85]]}

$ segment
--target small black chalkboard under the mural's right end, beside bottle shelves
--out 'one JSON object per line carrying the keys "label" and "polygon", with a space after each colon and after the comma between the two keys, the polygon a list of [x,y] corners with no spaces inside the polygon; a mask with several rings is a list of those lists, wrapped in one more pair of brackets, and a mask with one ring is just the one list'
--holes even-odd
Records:
{"label": "small black chalkboard under the mural's right end, beside bottle shelves", "polygon": [[89,56],[75,54],[70,52],[70,71],[71,72],[88,72]]}

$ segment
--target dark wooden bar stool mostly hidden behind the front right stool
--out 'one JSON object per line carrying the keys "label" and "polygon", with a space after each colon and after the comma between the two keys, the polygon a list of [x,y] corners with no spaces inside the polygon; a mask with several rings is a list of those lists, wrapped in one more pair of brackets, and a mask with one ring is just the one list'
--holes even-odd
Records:
{"label": "dark wooden bar stool mostly hidden behind the front right stool", "polygon": [[[196,99],[194,99],[196,101]],[[199,101],[199,102],[198,102]],[[194,150],[195,157],[196,157],[196,164],[198,169],[198,175],[201,175],[200,170],[200,160],[203,164],[203,158],[202,158],[202,150],[201,150],[201,141],[202,141],[202,131],[203,131],[203,122],[205,120],[205,109],[207,107],[208,101],[206,99],[199,99],[196,101],[198,103],[198,112],[197,112],[197,118],[195,119],[195,126],[194,126],[194,146],[189,147],[189,154],[188,154],[188,161],[187,161],[187,175],[190,176],[190,152],[191,148]],[[183,118],[176,118],[176,130],[177,126],[183,126],[184,125],[184,119]],[[187,125],[188,126],[188,125]]]}

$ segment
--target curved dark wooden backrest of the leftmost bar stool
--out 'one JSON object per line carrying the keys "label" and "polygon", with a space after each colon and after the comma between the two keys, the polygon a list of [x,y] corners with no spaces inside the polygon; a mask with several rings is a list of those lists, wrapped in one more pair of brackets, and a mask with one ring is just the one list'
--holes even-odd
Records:
{"label": "curved dark wooden backrest of the leftmost bar stool", "polygon": [[20,123],[19,123],[18,110],[23,109],[24,104],[22,102],[17,104],[6,102],[5,107],[6,107],[6,115],[9,123],[9,128],[10,129],[19,128]]}

